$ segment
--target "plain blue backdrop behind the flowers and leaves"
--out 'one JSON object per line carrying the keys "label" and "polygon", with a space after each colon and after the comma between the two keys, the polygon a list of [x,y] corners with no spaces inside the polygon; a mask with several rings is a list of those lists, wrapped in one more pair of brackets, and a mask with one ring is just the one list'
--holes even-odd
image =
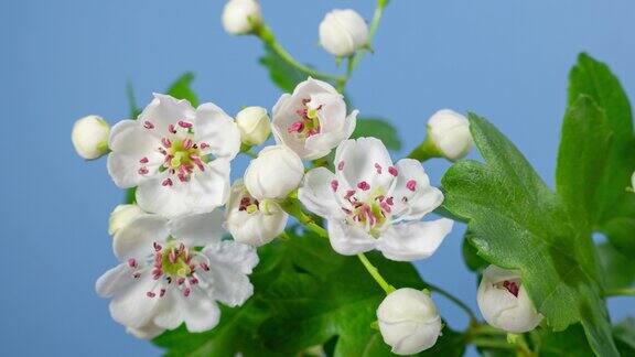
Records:
{"label": "plain blue backdrop behind the flowers and leaves", "polygon": [[[335,71],[318,24],[336,7],[370,19],[373,1],[263,0],[268,23],[298,58]],[[158,355],[125,334],[94,282],[115,264],[107,218],[122,194],[105,161],[74,154],[75,119],[128,115],[127,79],[140,105],[184,71],[204,101],[235,113],[270,108],[280,95],[257,64],[254,37],[223,32],[219,0],[20,0],[0,6],[3,173],[0,351],[14,355]],[[363,116],[388,118],[403,152],[424,136],[437,109],[489,118],[553,183],[567,73],[580,51],[607,62],[635,98],[635,2],[392,1],[374,47],[348,90]],[[439,183],[448,164],[426,165]],[[235,170],[238,175],[244,162]],[[475,307],[473,277],[461,262],[459,226],[417,266],[429,281]],[[628,304],[631,304],[628,306]],[[452,325],[466,322],[440,300]],[[613,317],[632,301],[611,301]]]}

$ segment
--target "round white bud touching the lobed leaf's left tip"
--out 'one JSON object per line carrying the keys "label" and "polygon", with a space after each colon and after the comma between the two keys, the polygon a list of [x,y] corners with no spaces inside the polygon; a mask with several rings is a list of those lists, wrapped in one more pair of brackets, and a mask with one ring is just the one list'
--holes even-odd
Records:
{"label": "round white bud touching the lobed leaf's left tip", "polygon": [[428,134],[437,150],[452,161],[464,158],[474,144],[470,121],[450,109],[439,110],[430,117]]}

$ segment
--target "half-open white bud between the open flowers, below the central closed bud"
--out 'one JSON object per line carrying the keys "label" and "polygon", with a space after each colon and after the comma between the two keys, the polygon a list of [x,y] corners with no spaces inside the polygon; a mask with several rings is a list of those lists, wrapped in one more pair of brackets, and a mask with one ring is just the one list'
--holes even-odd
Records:
{"label": "half-open white bud between the open flowers, below the central closed bud", "polygon": [[227,203],[227,229],[236,241],[259,247],[278,237],[289,215],[272,199],[254,198],[239,180]]}

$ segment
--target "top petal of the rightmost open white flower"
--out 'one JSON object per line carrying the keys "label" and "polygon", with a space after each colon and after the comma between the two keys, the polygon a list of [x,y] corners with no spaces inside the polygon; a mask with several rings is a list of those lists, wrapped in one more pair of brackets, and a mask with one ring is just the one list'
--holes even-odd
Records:
{"label": "top petal of the rightmost open white flower", "polygon": [[[351,187],[365,181],[370,185],[368,192],[377,187],[389,187],[394,176],[388,172],[392,165],[390,154],[384,143],[376,138],[359,138],[343,141],[335,151],[336,174],[346,180]],[[376,165],[381,167],[378,173]],[[338,167],[343,170],[340,171]]]}

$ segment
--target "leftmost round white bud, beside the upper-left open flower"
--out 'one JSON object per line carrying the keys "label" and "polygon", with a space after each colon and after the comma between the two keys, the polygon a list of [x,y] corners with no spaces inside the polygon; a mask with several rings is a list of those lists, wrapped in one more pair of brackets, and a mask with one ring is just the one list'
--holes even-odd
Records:
{"label": "leftmost round white bud, beside the upper-left open flower", "polygon": [[86,160],[97,159],[108,152],[110,126],[98,116],[84,117],[73,126],[71,140],[77,154]]}

